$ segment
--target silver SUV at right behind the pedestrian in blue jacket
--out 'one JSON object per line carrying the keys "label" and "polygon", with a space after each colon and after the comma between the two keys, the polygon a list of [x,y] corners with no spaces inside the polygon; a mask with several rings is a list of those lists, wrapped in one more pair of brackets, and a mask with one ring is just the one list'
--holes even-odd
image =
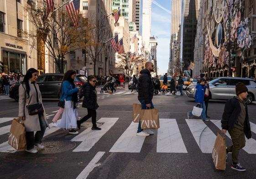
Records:
{"label": "silver SUV at right behind the pedestrian in blue jacket", "polygon": [[[256,100],[256,82],[250,78],[240,77],[219,77],[209,82],[211,99],[227,100],[234,96],[235,85],[243,82],[248,88],[247,104]],[[187,88],[188,97],[195,97],[196,84],[189,85]]]}

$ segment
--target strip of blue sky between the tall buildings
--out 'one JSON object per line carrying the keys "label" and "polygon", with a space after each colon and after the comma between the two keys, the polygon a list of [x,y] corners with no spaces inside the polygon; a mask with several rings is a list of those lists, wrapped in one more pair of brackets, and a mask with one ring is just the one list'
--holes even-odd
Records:
{"label": "strip of blue sky between the tall buildings", "polygon": [[172,0],[152,0],[151,36],[157,36],[157,66],[159,74],[167,72],[171,38]]}

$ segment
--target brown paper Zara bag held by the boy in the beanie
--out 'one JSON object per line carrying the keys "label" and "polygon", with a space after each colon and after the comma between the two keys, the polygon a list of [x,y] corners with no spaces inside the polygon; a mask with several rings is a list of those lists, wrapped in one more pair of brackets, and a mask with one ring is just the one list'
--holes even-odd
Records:
{"label": "brown paper Zara bag held by the boy in the beanie", "polygon": [[225,136],[222,137],[218,132],[212,151],[213,162],[216,169],[226,169],[226,154],[226,138]]}

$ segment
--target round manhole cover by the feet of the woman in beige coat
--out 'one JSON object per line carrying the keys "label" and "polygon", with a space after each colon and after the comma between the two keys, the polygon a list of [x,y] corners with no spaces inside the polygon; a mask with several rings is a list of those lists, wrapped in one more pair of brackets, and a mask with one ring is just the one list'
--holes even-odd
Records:
{"label": "round manhole cover by the feet of the woman in beige coat", "polygon": [[38,153],[59,153],[70,150],[76,146],[76,143],[67,140],[48,140],[43,141],[43,150],[39,150]]}

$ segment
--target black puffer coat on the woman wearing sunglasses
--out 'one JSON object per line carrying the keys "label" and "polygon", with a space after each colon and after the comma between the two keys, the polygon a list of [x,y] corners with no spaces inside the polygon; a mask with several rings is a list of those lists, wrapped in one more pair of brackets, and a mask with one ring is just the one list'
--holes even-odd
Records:
{"label": "black puffer coat on the woman wearing sunglasses", "polygon": [[99,105],[97,103],[97,91],[95,87],[93,87],[89,83],[85,83],[83,86],[83,91],[84,100],[82,107],[96,110],[99,107]]}

